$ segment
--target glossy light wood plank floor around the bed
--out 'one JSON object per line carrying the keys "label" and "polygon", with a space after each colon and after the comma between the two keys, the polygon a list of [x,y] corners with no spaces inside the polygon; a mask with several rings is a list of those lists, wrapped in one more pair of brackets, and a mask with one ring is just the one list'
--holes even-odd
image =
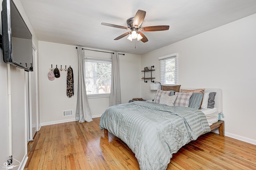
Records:
{"label": "glossy light wood plank floor around the bed", "polygon": [[[119,138],[90,123],[44,126],[28,143],[24,170],[136,170],[134,153]],[[14,139],[15,140],[15,139]],[[173,154],[168,170],[256,170],[256,146],[209,132]]]}

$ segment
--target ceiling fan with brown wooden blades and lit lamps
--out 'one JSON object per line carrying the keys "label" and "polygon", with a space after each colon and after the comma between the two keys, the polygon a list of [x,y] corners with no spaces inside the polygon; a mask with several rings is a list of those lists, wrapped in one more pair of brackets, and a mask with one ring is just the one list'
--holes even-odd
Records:
{"label": "ceiling fan with brown wooden blades and lit lamps", "polygon": [[146,36],[144,34],[142,34],[141,31],[150,32],[150,31],[169,30],[169,26],[141,27],[145,16],[146,16],[146,11],[138,10],[135,17],[129,18],[126,21],[127,27],[118,26],[118,25],[114,25],[114,24],[108,24],[108,23],[104,23],[104,22],[102,22],[101,25],[129,30],[129,32],[126,32],[126,33],[122,34],[121,36],[118,36],[114,40],[119,40],[119,39],[124,38],[125,36],[129,35],[127,38],[128,40],[132,41],[133,39],[137,39],[138,41],[141,40],[144,43],[148,42],[148,39],[146,38]]}

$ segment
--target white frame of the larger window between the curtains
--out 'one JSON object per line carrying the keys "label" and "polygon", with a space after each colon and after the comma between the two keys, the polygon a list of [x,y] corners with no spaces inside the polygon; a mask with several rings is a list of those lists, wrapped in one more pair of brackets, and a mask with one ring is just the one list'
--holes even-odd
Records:
{"label": "white frame of the larger window between the curtains", "polygon": [[[95,60],[95,61],[104,61],[106,63],[110,63],[111,64],[111,69],[112,69],[112,59],[102,59],[102,58],[92,58],[92,57],[84,57],[84,83],[86,83],[86,77],[85,77],[85,73],[86,73],[86,59],[89,59],[89,60]],[[104,63],[102,62],[102,63]],[[110,73],[110,85],[111,85],[111,77],[112,77],[112,70],[111,70],[111,73]],[[111,86],[110,86],[111,88]],[[110,97],[110,93],[100,93],[100,94],[87,94],[87,98],[88,99],[92,99],[92,98],[104,98],[104,97]]]}

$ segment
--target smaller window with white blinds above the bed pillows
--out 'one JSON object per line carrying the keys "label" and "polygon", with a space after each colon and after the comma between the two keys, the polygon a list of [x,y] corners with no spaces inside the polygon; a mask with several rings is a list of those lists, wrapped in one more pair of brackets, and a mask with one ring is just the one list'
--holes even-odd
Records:
{"label": "smaller window with white blinds above the bed pillows", "polygon": [[160,81],[162,84],[178,84],[178,53],[159,57]]}

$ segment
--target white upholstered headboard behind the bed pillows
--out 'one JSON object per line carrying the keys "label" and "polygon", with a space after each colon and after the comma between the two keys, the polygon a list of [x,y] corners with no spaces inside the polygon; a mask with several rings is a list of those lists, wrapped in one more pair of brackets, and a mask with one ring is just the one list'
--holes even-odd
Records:
{"label": "white upholstered headboard behind the bed pillows", "polygon": [[[203,89],[203,88],[187,88],[187,87],[180,87],[180,89]],[[216,92],[214,101],[214,107],[218,110],[219,113],[222,113],[222,90],[221,89],[213,89],[213,88],[205,88],[204,92]]]}

